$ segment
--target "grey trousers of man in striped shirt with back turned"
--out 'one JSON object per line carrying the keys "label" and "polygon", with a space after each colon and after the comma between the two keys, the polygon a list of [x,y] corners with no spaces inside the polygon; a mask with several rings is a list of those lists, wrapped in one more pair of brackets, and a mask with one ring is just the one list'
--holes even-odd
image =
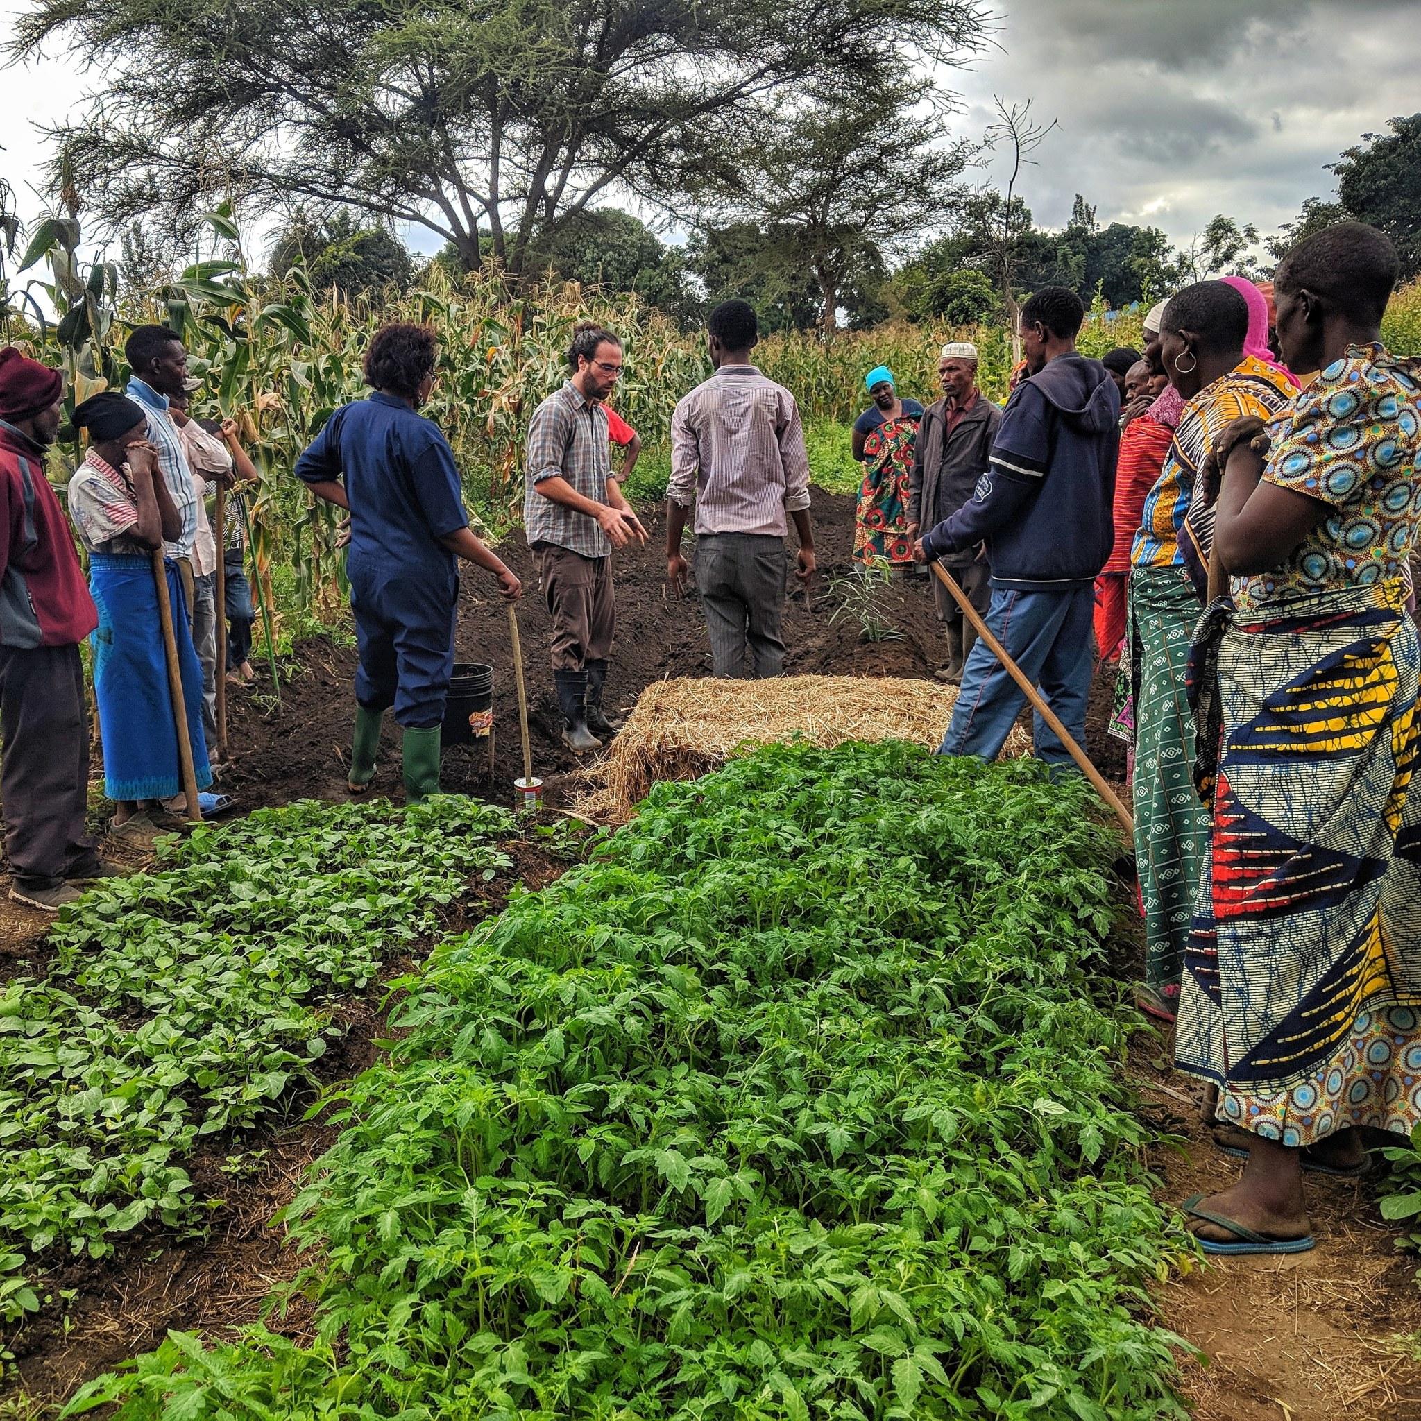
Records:
{"label": "grey trousers of man in striped shirt with back turned", "polygon": [[696,539],[696,590],[718,676],[739,676],[749,642],[755,678],[784,671],[784,539],[703,533]]}

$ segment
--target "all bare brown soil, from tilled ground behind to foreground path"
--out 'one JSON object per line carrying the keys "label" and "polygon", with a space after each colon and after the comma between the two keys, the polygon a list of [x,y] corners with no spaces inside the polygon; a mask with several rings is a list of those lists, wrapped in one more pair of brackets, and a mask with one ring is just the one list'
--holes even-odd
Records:
{"label": "all bare brown soil, from tilled ground behind to foreground path", "polygon": [[[946,648],[926,580],[894,581],[884,588],[880,611],[901,635],[863,641],[850,615],[834,618],[847,585],[836,587],[836,580],[850,576],[853,499],[817,493],[814,519],[821,576],[809,593],[791,590],[786,610],[789,669],[929,676],[945,662]],[[699,605],[693,597],[679,601],[668,595],[661,520],[652,513],[647,522],[649,544],[617,554],[618,638],[608,678],[610,706],[630,708],[651,681],[710,669]],[[550,803],[568,803],[578,796],[578,763],[558,740],[560,718],[546,658],[547,610],[522,539],[510,539],[500,554],[527,588],[519,621],[534,774],[547,782]],[[496,735],[492,773],[487,746],[446,753],[445,789],[510,803],[512,782],[523,769],[507,614],[479,576],[463,584],[458,648],[460,659],[493,665]],[[242,809],[345,797],[354,668],[352,647],[338,638],[313,638],[301,642],[283,668],[280,705],[264,668],[259,668],[253,688],[232,689],[236,764],[222,787],[239,797]],[[1100,668],[1091,689],[1087,752],[1123,791],[1123,747],[1106,735],[1113,692],[1114,669]],[[398,732],[387,728],[375,793],[402,797],[398,756]],[[530,887],[560,871],[536,844],[514,845],[514,855],[513,877]],[[144,864],[135,858],[129,867],[141,870]],[[497,911],[507,882],[500,878],[490,888],[450,926]],[[0,982],[43,968],[47,921],[0,899]],[[412,965],[392,963],[387,979]],[[324,1063],[333,1081],[372,1061],[382,1032],[378,989],[341,1010],[350,1032],[341,1050]],[[1179,1141],[1148,1152],[1164,1204],[1219,1188],[1239,1168],[1214,1148],[1199,1124],[1192,1083],[1168,1067],[1171,1047],[1167,1037],[1141,1039],[1130,1067],[1151,1117]],[[54,1302],[37,1322],[7,1339],[16,1361],[0,1380],[0,1408],[3,1398],[18,1393],[41,1407],[57,1404],[84,1380],[155,1346],[168,1329],[217,1336],[256,1320],[270,1292],[290,1282],[301,1266],[273,1221],[333,1138],[321,1120],[303,1121],[249,1133],[192,1161],[199,1187],[222,1201],[207,1228],[182,1238],[152,1231],[102,1265],[77,1265],[53,1279]],[[1312,1253],[1218,1262],[1160,1290],[1164,1326],[1208,1356],[1206,1363],[1184,1357],[1184,1390],[1198,1421],[1421,1421],[1421,1366],[1407,1343],[1408,1334],[1421,1334],[1415,1260],[1393,1248],[1373,1194],[1371,1181],[1310,1178],[1320,1241]],[[72,1297],[61,1299],[60,1289],[72,1289]],[[310,1306],[297,1300],[269,1324],[308,1340]]]}

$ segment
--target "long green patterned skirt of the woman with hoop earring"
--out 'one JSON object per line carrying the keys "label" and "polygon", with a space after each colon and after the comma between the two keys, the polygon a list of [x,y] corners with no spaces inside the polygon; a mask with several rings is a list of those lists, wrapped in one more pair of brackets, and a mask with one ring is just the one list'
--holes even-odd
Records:
{"label": "long green patterned skirt of the woman with hoop earring", "polygon": [[1145,914],[1145,982],[1179,980],[1209,817],[1194,791],[1194,712],[1185,699],[1199,598],[1178,567],[1130,576],[1135,865]]}

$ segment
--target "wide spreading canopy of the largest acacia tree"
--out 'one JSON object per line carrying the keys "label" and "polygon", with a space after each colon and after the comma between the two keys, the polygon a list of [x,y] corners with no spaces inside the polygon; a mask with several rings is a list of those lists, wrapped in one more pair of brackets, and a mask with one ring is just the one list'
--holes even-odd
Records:
{"label": "wide spreading canopy of the largest acacia tree", "polygon": [[111,223],[217,195],[351,206],[520,270],[617,190],[674,205],[821,82],[961,60],[980,0],[31,0],[10,51],[67,45],[105,88],[57,131]]}

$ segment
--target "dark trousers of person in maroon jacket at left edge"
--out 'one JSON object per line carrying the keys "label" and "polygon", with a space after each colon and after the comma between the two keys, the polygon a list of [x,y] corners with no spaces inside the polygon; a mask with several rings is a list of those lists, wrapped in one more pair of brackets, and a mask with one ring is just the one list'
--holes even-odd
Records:
{"label": "dark trousers of person in maroon jacket at left edge", "polygon": [[10,872],[54,888],[98,863],[84,828],[88,710],[78,647],[0,647],[0,794]]}

